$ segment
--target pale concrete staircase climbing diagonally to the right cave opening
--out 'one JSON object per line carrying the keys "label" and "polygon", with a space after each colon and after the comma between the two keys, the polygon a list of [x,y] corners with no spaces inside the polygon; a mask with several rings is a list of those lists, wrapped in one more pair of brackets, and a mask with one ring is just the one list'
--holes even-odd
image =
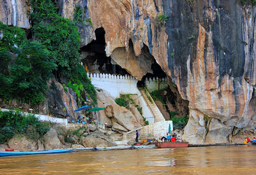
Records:
{"label": "pale concrete staircase climbing diagonally to the right cave opening", "polygon": [[158,109],[158,106],[156,106],[154,99],[152,98],[152,96],[149,94],[149,92],[143,88],[139,88],[139,92],[141,92],[141,95],[143,96],[144,100],[147,103],[147,106],[150,110],[150,112],[152,113],[152,115],[155,118],[155,123],[158,121],[164,121],[165,118],[162,115],[162,113],[160,112],[160,110]]}

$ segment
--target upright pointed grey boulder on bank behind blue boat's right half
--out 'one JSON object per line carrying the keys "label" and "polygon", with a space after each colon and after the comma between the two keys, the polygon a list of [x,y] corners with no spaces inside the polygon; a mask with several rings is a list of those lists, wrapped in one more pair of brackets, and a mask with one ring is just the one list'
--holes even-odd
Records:
{"label": "upright pointed grey boulder on bank behind blue boat's right half", "polygon": [[43,137],[45,149],[60,149],[62,144],[58,138],[57,132],[51,128]]}

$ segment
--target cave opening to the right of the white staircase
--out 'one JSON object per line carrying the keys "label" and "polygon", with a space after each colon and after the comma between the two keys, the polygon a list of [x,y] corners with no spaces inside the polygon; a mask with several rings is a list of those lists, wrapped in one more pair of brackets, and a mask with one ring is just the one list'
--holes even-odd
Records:
{"label": "cave opening to the right of the white staircase", "polygon": [[[148,49],[145,51],[148,51],[149,54]],[[150,54],[150,56],[152,55]],[[141,81],[138,81],[137,86],[140,89],[147,89],[166,120],[177,118],[178,116],[188,116],[189,102],[183,100],[177,86],[172,82],[171,78],[167,78],[166,73],[162,71],[155,59],[150,71],[142,77]],[[150,104],[148,105],[150,106]]]}

